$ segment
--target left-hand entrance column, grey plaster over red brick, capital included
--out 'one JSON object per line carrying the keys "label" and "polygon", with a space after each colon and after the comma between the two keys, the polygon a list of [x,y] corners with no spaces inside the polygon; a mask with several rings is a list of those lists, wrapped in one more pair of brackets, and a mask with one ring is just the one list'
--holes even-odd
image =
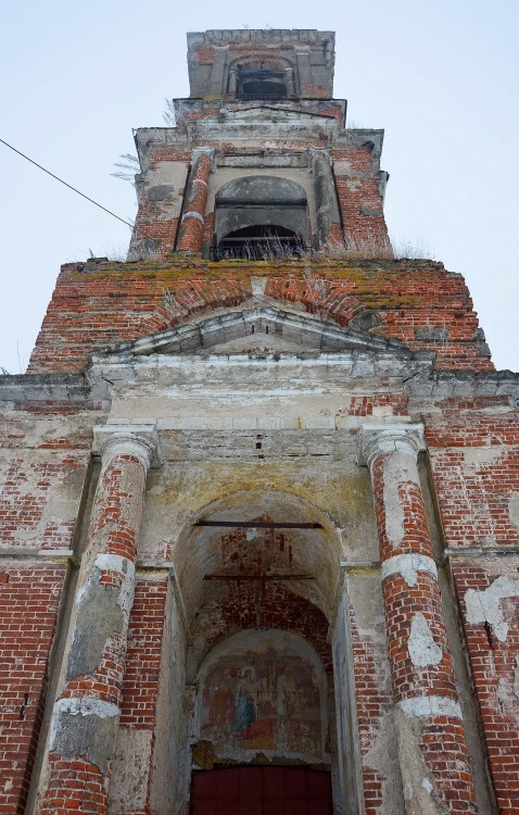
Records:
{"label": "left-hand entrance column, grey plaster over red brick, capital included", "polygon": [[107,812],[153,426],[96,429],[102,467],[36,812]]}

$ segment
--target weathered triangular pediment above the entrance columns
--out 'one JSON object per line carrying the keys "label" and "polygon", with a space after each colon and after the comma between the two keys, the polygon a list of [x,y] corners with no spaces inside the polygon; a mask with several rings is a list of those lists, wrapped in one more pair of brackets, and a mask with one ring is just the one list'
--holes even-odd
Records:
{"label": "weathered triangular pediment above the entrance columns", "polygon": [[239,354],[306,352],[388,352],[410,354],[397,340],[342,328],[315,315],[273,306],[225,311],[205,318],[102,349],[98,354]]}

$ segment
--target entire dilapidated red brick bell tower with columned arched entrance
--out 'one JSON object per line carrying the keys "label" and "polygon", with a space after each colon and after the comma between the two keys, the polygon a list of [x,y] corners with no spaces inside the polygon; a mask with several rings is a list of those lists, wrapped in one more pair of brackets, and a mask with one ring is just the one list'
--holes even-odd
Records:
{"label": "entire dilapidated red brick bell tower with columned arched entrance", "polygon": [[1,812],[519,812],[519,378],[333,58],[189,34],[127,261],[0,377]]}

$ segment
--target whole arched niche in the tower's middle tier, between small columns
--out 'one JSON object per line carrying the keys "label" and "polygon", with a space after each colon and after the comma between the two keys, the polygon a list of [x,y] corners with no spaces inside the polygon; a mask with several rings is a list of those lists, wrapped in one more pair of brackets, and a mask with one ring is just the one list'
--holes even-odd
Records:
{"label": "whole arched niche in the tower's middle tier, between small columns", "polygon": [[215,197],[217,258],[298,253],[308,244],[305,189],[274,175],[241,176]]}

